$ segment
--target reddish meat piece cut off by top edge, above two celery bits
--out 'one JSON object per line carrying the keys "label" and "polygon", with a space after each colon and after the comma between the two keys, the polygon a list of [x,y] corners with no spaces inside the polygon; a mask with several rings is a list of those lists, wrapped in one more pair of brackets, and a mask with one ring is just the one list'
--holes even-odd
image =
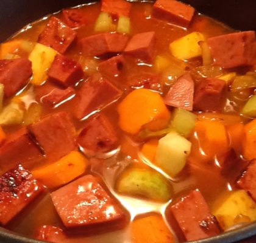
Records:
{"label": "reddish meat piece cut off by top edge, above two celery bits", "polygon": [[131,4],[125,0],[101,0],[101,11],[109,13],[113,18],[129,17]]}

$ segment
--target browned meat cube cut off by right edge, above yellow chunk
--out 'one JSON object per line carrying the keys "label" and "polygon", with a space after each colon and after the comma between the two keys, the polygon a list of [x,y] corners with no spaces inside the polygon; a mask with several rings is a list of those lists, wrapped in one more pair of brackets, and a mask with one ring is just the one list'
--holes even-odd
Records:
{"label": "browned meat cube cut off by right edge, above yellow chunk", "polygon": [[237,182],[238,186],[247,191],[256,202],[256,160],[247,167]]}

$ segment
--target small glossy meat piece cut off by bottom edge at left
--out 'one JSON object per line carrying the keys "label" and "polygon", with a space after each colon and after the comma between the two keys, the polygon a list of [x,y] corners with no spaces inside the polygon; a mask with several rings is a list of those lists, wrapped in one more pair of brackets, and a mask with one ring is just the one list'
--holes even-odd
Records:
{"label": "small glossy meat piece cut off by bottom edge at left", "polygon": [[63,243],[67,239],[66,234],[59,227],[43,225],[38,228],[35,239],[52,243]]}

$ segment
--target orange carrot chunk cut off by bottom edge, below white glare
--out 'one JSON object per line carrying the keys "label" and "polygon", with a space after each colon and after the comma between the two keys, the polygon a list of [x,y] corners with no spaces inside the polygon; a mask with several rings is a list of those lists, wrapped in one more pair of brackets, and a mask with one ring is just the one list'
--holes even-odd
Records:
{"label": "orange carrot chunk cut off by bottom edge, below white glare", "polygon": [[162,216],[153,214],[132,222],[132,242],[174,243],[176,240]]}

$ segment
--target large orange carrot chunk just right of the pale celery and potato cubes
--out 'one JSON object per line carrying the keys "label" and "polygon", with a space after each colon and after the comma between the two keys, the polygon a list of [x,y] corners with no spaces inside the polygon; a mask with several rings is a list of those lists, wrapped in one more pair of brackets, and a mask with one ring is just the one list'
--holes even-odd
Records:
{"label": "large orange carrot chunk just right of the pale celery and potato cubes", "polygon": [[202,151],[214,157],[229,150],[226,129],[219,121],[197,121],[195,131]]}

